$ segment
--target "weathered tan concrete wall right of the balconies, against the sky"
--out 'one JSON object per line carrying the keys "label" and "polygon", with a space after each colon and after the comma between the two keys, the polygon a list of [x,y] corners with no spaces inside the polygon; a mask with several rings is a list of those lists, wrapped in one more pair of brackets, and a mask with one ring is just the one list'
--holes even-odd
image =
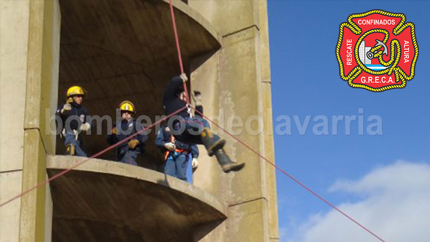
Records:
{"label": "weathered tan concrete wall right of the balconies, against the sky", "polygon": [[[190,7],[205,16],[223,36],[220,51],[194,60],[191,88],[202,92],[205,114],[216,117],[224,128],[229,128],[229,119],[239,116],[244,128],[236,137],[274,162],[266,4],[189,1]],[[264,122],[265,132],[246,132],[246,121],[257,117]],[[250,128],[258,130],[257,124],[254,120]],[[216,127],[213,129],[222,133]],[[224,174],[216,159],[200,156],[194,184],[229,205],[228,220],[201,241],[278,241],[273,167],[227,135],[224,138],[231,158],[245,161],[246,167],[238,173]]]}

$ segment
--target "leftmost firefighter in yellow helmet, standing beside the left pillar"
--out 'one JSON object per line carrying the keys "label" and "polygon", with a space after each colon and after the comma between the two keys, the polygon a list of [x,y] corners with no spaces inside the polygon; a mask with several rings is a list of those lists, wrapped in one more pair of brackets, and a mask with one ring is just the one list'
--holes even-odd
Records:
{"label": "leftmost firefighter in yellow helmet, standing beside the left pillar", "polygon": [[66,146],[66,154],[87,157],[82,147],[82,135],[80,135],[82,131],[88,131],[91,128],[90,123],[87,122],[87,116],[90,113],[82,106],[84,96],[81,87],[70,87],[67,90],[66,103],[60,105],[56,115],[62,120],[61,138]]}

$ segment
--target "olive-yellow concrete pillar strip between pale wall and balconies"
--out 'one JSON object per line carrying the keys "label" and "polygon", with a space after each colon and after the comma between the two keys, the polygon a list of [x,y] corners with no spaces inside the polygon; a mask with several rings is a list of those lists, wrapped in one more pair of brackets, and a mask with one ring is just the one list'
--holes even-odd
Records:
{"label": "olive-yellow concrete pillar strip between pale wall and balconies", "polygon": [[[55,153],[55,136],[47,131],[46,109],[57,104],[61,14],[58,1],[30,1],[24,117],[22,190],[44,181],[47,154]],[[21,199],[20,241],[50,241],[52,200],[49,186]]]}

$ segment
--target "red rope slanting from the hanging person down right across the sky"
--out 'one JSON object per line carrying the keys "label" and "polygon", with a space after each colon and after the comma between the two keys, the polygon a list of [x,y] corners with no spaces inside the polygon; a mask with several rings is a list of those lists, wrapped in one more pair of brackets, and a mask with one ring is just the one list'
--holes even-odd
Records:
{"label": "red rope slanting from the hanging person down right across the sky", "polygon": [[373,233],[372,231],[370,231],[369,229],[367,229],[366,227],[364,227],[362,224],[360,224],[358,221],[356,221],[355,219],[353,219],[351,216],[349,216],[348,214],[346,214],[345,212],[341,211],[340,209],[338,209],[336,206],[334,206],[333,204],[331,204],[328,200],[324,199],[322,196],[318,195],[318,193],[314,192],[311,188],[307,187],[305,184],[303,184],[302,182],[300,182],[299,180],[297,180],[296,178],[294,178],[293,176],[291,176],[290,174],[288,174],[286,171],[284,171],[282,168],[276,166],[274,163],[272,163],[269,159],[267,159],[266,157],[264,157],[263,155],[261,155],[259,152],[255,151],[253,148],[251,148],[249,145],[247,145],[246,143],[244,143],[243,141],[241,141],[240,139],[236,138],[234,135],[232,135],[231,133],[229,133],[227,130],[225,130],[223,127],[219,126],[217,123],[213,122],[212,120],[210,120],[208,117],[206,117],[205,115],[203,115],[203,113],[201,113],[199,110],[195,109],[194,107],[191,107],[192,109],[194,109],[194,111],[196,111],[197,113],[199,113],[202,117],[206,118],[207,120],[210,121],[210,123],[212,123],[213,125],[217,126],[218,128],[222,129],[224,132],[226,132],[229,136],[231,136],[233,139],[235,139],[236,141],[238,141],[239,143],[241,143],[242,145],[244,145],[246,148],[248,148],[249,150],[251,150],[253,153],[257,154],[258,156],[260,156],[261,158],[263,158],[264,160],[266,160],[267,163],[269,163],[270,165],[272,165],[274,168],[278,169],[280,172],[282,172],[283,174],[285,174],[286,176],[288,176],[291,180],[293,180],[295,183],[297,183],[298,185],[302,186],[303,188],[305,188],[306,190],[308,190],[310,193],[312,193],[313,195],[315,195],[316,197],[318,197],[319,199],[321,199],[322,201],[324,201],[324,203],[328,204],[330,207],[332,207],[333,209],[335,209],[337,212],[339,212],[340,214],[342,214],[343,216],[347,217],[349,220],[353,221],[354,223],[356,223],[358,226],[360,226],[362,229],[366,230],[368,233],[370,233],[371,235],[373,235],[374,237],[376,237],[377,239],[379,239],[382,242],[386,242],[385,240],[383,240],[382,238],[380,238],[378,235],[376,235],[375,233]]}

